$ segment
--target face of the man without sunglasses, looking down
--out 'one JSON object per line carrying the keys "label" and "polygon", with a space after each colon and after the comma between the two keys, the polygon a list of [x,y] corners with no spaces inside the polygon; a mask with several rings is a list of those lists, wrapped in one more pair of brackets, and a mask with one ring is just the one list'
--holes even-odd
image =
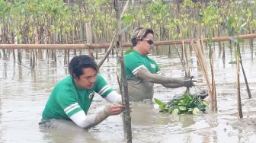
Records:
{"label": "face of the man without sunglasses, looking down", "polygon": [[84,68],[80,78],[74,78],[75,84],[79,88],[91,89],[97,80],[97,71],[94,68]]}

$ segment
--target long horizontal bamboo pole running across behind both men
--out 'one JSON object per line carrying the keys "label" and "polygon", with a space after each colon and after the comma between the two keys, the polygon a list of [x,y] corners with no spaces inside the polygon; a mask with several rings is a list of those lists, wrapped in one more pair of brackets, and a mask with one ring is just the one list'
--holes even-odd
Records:
{"label": "long horizontal bamboo pole running across behind both men", "polygon": [[[256,38],[256,33],[239,35],[241,40]],[[182,45],[184,43],[197,43],[197,39],[187,40],[166,40],[157,41],[155,46]],[[230,37],[213,37],[212,42],[231,41]],[[207,43],[207,38],[203,38],[203,43]],[[85,44],[0,44],[0,49],[107,49],[110,43],[85,43]],[[132,47],[132,43],[123,43],[123,47]]]}

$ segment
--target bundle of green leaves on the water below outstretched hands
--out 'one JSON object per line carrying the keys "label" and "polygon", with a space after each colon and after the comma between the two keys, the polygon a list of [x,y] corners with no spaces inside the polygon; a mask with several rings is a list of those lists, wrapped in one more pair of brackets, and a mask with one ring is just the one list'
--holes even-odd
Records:
{"label": "bundle of green leaves on the water below outstretched hands", "polygon": [[183,97],[171,100],[168,103],[164,103],[156,98],[154,100],[158,104],[160,112],[174,115],[204,113],[208,108],[208,103],[205,100],[190,94],[184,94]]}

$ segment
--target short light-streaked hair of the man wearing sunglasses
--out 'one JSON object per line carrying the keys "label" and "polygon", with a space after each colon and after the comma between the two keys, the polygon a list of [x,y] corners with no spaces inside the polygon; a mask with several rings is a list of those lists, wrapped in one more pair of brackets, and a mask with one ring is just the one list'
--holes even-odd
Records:
{"label": "short light-streaked hair of the man wearing sunglasses", "polygon": [[137,27],[135,30],[133,30],[131,42],[133,43],[133,46],[136,46],[138,43],[138,40],[143,40],[149,33],[152,33],[154,35],[154,31],[150,28],[144,28],[144,27]]}

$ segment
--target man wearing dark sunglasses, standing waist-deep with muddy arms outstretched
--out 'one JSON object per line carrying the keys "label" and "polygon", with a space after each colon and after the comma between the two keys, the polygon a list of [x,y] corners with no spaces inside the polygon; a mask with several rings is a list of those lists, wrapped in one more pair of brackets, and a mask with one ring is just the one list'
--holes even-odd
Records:
{"label": "man wearing dark sunglasses, standing waist-deep with muddy arms outstretched", "polygon": [[133,52],[124,56],[126,78],[130,100],[152,100],[154,83],[164,87],[190,87],[190,78],[171,78],[162,75],[158,64],[147,56],[154,46],[154,32],[152,29],[138,27],[133,31],[131,40]]}

